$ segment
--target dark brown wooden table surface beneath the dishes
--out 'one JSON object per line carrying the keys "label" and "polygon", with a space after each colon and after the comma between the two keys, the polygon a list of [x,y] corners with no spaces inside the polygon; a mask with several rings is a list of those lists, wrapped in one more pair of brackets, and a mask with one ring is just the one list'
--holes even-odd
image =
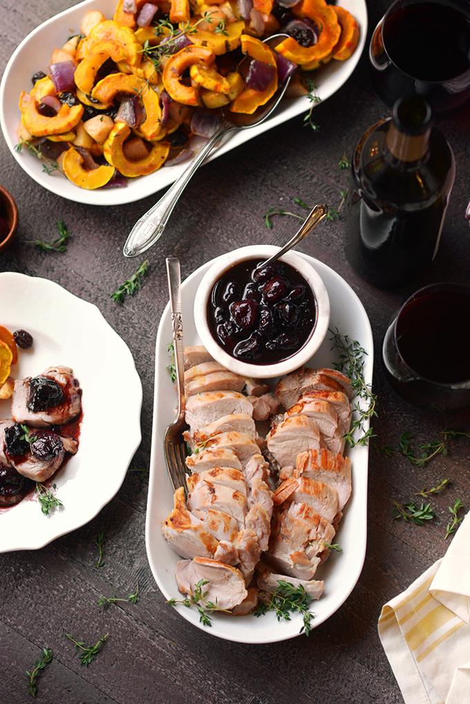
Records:
{"label": "dark brown wooden table surface beneath the dishes", "polygon": [[[369,2],[369,34],[387,4]],[[68,6],[68,0],[2,2],[1,68],[28,32]],[[422,468],[410,464],[397,448],[405,431],[414,434],[417,444],[428,443],[440,439],[440,432],[449,427],[468,431],[470,423],[468,414],[430,415],[401,401],[384,378],[379,351],[391,314],[412,290],[444,279],[469,281],[470,232],[464,218],[470,197],[469,109],[436,119],[454,149],[457,179],[438,256],[421,280],[407,289],[384,291],[359,279],[344,260],[341,218],[318,227],[315,236],[299,247],[336,270],[363,301],[376,355],[374,445],[396,448],[391,457],[376,446],[370,448],[367,555],[346,603],[309,638],[272,645],[231,643],[214,638],[209,629],[195,629],[164,603],[155,585],[145,554],[148,480],[139,472],[128,473],[117,496],[89,524],[41,550],[0,555],[2,701],[30,701],[26,670],[46,647],[53,650],[53,662],[39,681],[39,702],[403,702],[381,648],[377,620],[381,606],[448,548],[449,540],[444,539],[448,505],[456,498],[470,503],[470,441],[453,441],[448,455],[439,455]],[[46,277],[96,303],[129,345],[143,383],[143,441],[131,469],[149,465],[155,335],[167,303],[165,256],[180,258],[186,277],[237,246],[254,240],[284,242],[296,221],[277,218],[268,230],[263,222],[268,208],[299,212],[293,202],[296,196],[307,203],[339,206],[340,191],[346,187],[341,157],[351,156],[365,129],[387,114],[372,91],[363,56],[344,87],[315,108],[318,132],[303,127],[300,116],[205,165],[174,210],[164,237],[148,252],[143,288],[124,303],[115,303],[110,294],[143,260],[122,256],[124,239],[161,194],[112,208],[65,201],[32,181],[0,139],[0,183],[11,191],[20,211],[18,237],[0,255],[0,270]],[[65,253],[44,254],[27,244],[30,239],[53,239],[57,220],[65,220],[72,232]],[[118,430],[125,432],[125,417]],[[436,486],[443,477],[450,477],[452,484],[432,500],[436,520],[419,527],[391,519],[393,501],[410,501],[414,492]],[[98,568],[100,530],[105,532],[104,565]],[[98,605],[100,596],[126,596],[137,582],[136,605],[120,602],[107,610]],[[98,659],[83,667],[65,631],[87,644],[110,635]]]}

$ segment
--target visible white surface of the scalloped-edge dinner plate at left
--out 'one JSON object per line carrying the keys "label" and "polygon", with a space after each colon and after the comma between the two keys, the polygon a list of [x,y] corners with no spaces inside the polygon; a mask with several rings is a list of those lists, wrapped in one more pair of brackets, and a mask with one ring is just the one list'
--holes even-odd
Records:
{"label": "visible white surface of the scalloped-edge dinner plate at left", "polygon": [[[35,376],[63,364],[72,367],[83,389],[79,451],[54,479],[63,508],[46,516],[28,496],[0,511],[0,552],[37,550],[89,522],[117,494],[141,444],[142,384],[128,346],[93,303],[48,279],[15,272],[0,273],[0,300],[0,324],[27,329],[34,339],[30,350],[19,351],[13,376]],[[125,402],[117,378],[126,386]],[[110,409],[123,403],[125,432],[109,443]],[[11,417],[9,409],[1,401],[0,417]],[[119,422],[117,414],[114,420]]]}

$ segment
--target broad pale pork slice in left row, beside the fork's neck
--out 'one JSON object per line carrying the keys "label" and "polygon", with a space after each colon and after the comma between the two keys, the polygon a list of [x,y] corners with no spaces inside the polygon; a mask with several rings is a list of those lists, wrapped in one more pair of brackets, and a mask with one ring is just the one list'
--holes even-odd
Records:
{"label": "broad pale pork slice in left row, beside the fork's neck", "polygon": [[253,415],[253,406],[246,396],[237,391],[204,391],[188,398],[185,420],[193,435],[223,415],[233,413]]}

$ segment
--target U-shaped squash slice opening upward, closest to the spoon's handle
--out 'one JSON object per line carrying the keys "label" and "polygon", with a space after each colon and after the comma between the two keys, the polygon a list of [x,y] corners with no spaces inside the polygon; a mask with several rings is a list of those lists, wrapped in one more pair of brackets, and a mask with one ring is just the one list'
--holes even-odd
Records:
{"label": "U-shaped squash slice opening upward, closest to the spoon's handle", "polygon": [[104,156],[107,162],[115,166],[124,176],[146,176],[160,168],[170,151],[169,142],[157,142],[148,156],[138,161],[131,161],[124,156],[122,145],[131,134],[131,128],[125,122],[116,122],[104,144]]}

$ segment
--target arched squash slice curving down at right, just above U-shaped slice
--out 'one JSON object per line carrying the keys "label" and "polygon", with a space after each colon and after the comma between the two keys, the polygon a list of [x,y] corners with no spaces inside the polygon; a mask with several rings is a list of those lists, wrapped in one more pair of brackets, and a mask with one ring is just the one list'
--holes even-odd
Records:
{"label": "arched squash slice curving down at right, just above U-shaped slice", "polygon": [[162,108],[157,93],[144,80],[133,74],[110,73],[99,81],[91,92],[93,99],[110,103],[117,93],[138,96],[143,102],[146,119],[139,130],[145,139],[154,139],[162,129]]}

